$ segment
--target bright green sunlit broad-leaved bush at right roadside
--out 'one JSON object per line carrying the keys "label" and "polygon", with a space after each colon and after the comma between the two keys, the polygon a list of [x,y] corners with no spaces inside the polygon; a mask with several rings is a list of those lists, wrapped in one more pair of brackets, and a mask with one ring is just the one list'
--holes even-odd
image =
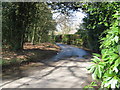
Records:
{"label": "bright green sunlit broad-leaved bush at right roadside", "polygon": [[95,54],[93,65],[89,68],[92,76],[101,81],[101,87],[120,87],[120,15],[114,14],[115,22],[106,30],[106,36],[101,38],[101,55]]}

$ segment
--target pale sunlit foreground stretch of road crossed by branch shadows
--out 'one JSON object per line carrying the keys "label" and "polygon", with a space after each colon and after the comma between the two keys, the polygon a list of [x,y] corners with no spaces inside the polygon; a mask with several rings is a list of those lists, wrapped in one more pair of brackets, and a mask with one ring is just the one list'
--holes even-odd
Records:
{"label": "pale sunlit foreground stretch of road crossed by branch shadows", "polygon": [[[9,80],[7,83],[4,82],[2,86],[8,85],[7,87],[9,87],[13,85],[14,88],[83,88],[92,81],[91,74],[86,69],[91,65],[90,61],[90,58],[78,57],[68,57],[57,61],[40,60],[41,66],[38,65],[27,71],[20,71],[18,73],[20,77],[18,75],[16,79]],[[15,76],[13,77],[15,78]],[[3,81],[7,81],[7,79],[3,77]],[[21,79],[24,79],[24,81]],[[19,84],[15,86],[18,81]]]}

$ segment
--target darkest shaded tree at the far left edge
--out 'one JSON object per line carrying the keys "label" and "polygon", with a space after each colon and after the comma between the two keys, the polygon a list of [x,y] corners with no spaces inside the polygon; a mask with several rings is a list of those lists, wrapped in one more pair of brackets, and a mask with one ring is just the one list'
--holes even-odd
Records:
{"label": "darkest shaded tree at the far left edge", "polygon": [[3,6],[3,42],[10,45],[12,50],[23,48],[26,27],[30,23],[29,5],[34,3],[15,2],[2,3]]}

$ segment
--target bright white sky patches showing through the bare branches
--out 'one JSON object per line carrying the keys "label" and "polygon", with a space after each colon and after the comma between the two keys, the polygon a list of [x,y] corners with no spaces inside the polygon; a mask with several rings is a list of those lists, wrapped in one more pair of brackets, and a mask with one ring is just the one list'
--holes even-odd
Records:
{"label": "bright white sky patches showing through the bare branches", "polygon": [[[60,18],[61,14],[60,13],[53,13],[53,19],[55,19],[56,21],[58,21],[58,19]],[[63,15],[64,16],[64,15]],[[86,16],[85,13],[82,12],[82,10],[79,11],[74,11],[72,12],[72,16],[70,17],[70,27],[71,27],[71,31],[69,32],[69,34],[74,34],[75,32],[77,32],[77,29],[80,25],[80,23],[82,23],[82,19]],[[61,27],[58,24],[56,26],[57,31],[56,33],[62,33]]]}

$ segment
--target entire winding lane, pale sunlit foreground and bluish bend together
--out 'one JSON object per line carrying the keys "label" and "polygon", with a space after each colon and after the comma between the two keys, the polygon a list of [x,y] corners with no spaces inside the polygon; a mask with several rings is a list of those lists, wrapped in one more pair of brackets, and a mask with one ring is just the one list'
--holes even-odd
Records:
{"label": "entire winding lane, pale sunlit foreground and bluish bend together", "polygon": [[47,66],[45,69],[33,70],[26,77],[3,79],[1,88],[83,88],[90,84],[92,78],[86,67],[92,63],[82,57],[87,52],[68,45],[57,45],[62,50],[50,59],[52,64],[43,62]]}

